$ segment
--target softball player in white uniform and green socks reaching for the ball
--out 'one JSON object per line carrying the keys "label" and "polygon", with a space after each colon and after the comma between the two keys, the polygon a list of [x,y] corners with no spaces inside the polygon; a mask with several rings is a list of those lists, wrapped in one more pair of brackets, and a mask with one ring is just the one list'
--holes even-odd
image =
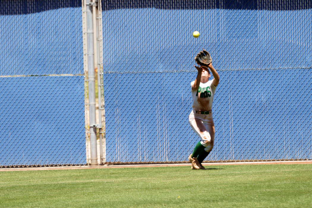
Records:
{"label": "softball player in white uniform and green socks reaching for the ball", "polygon": [[[200,137],[193,153],[188,157],[192,163],[192,169],[205,169],[201,163],[213,148],[215,127],[212,118],[212,102],[220,80],[218,72],[212,66],[209,53],[204,51],[206,60],[205,57],[200,56],[201,52],[195,57],[200,66],[194,65],[198,72],[196,79],[191,82],[193,109],[189,115],[189,123]],[[214,77],[212,80],[209,80],[211,76],[209,70]]]}

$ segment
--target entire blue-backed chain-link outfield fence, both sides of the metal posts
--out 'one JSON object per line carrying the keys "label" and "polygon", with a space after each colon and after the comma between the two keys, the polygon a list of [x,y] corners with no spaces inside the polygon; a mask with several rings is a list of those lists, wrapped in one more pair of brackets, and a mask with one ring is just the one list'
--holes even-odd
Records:
{"label": "entire blue-backed chain-link outfield fence, both sides of the metal posts", "polygon": [[[0,4],[0,167],[86,164],[82,2]],[[220,75],[207,160],[312,159],[311,1],[101,6],[106,162],[187,161],[203,48]]]}

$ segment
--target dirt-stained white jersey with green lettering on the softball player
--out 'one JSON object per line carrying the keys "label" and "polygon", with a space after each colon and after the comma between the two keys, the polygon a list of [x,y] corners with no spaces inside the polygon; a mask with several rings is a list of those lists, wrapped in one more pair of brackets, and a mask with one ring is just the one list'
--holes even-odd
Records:
{"label": "dirt-stained white jersey with green lettering on the softball player", "polygon": [[[191,82],[191,89],[195,81]],[[213,97],[216,92],[216,86],[212,84],[212,80],[206,83],[200,83],[197,90],[192,89],[193,110],[212,110]]]}

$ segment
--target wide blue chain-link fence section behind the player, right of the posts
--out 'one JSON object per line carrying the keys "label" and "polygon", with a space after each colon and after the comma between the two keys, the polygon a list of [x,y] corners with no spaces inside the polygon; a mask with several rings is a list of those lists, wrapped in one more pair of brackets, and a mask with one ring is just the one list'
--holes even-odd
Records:
{"label": "wide blue chain-link fence section behind the player, right of the posts", "polygon": [[107,162],[187,160],[199,141],[188,115],[202,48],[220,75],[207,160],[312,158],[310,1],[102,6]]}

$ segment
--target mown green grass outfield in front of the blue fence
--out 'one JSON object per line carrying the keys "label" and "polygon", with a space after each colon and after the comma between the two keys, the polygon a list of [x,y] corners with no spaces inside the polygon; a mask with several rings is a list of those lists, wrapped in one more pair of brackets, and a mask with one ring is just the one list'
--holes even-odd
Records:
{"label": "mown green grass outfield in front of the blue fence", "polygon": [[312,207],[312,164],[0,172],[0,207]]}

